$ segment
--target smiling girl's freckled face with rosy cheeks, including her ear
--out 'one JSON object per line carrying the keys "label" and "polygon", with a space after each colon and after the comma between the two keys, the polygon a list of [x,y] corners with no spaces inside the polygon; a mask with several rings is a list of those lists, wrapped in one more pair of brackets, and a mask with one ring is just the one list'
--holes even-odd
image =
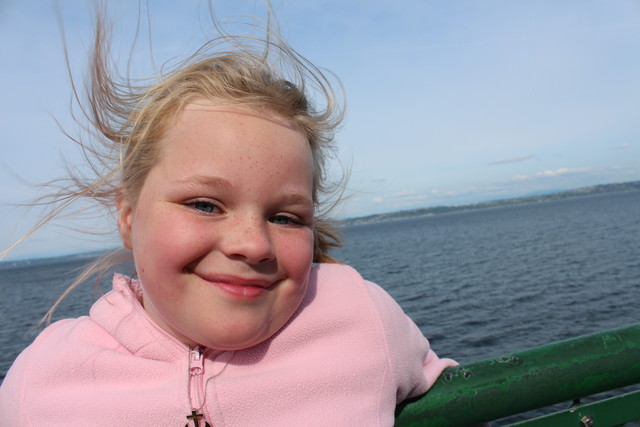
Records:
{"label": "smiling girl's freckled face with rosy cheeks, including her ear", "polygon": [[199,101],[160,141],[135,205],[118,203],[144,308],[190,346],[258,344],[298,308],[313,258],[313,159],[275,115]]}

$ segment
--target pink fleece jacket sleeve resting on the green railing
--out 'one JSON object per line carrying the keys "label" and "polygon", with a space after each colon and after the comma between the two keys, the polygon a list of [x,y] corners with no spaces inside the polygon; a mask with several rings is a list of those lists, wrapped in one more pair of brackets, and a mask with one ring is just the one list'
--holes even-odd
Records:
{"label": "pink fleece jacket sleeve resting on the green railing", "polygon": [[396,403],[425,393],[442,371],[456,366],[439,358],[418,326],[380,286],[367,282],[385,335],[388,363],[397,383]]}

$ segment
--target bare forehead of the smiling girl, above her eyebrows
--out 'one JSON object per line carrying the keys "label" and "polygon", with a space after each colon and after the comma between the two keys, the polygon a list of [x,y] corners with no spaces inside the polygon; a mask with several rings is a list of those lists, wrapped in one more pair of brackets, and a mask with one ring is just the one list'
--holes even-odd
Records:
{"label": "bare forehead of the smiling girl, above her eyebrows", "polygon": [[308,139],[290,121],[245,106],[197,100],[185,106],[159,141],[164,166],[207,169],[237,165],[275,173],[288,168],[313,176]]}

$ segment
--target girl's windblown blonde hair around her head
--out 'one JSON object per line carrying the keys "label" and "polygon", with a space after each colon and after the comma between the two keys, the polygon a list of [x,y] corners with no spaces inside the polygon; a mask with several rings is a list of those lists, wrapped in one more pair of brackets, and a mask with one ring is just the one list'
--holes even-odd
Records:
{"label": "girl's windblown blonde hair around her head", "polygon": [[[43,223],[84,198],[109,209],[118,197],[135,205],[158,158],[162,135],[187,104],[207,98],[275,113],[304,133],[314,159],[314,261],[337,262],[328,252],[340,246],[340,240],[327,215],[344,186],[342,180],[330,183],[326,169],[334,154],[334,134],[343,118],[334,86],[326,73],[269,26],[264,37],[231,36],[215,22],[214,27],[219,38],[149,83],[135,85],[114,71],[107,23],[104,13],[98,13],[87,102],[78,101],[93,138],[90,144],[76,140],[94,176],[86,179],[72,174],[71,185],[51,196],[48,203],[52,210]],[[338,88],[342,93],[339,82]],[[74,94],[80,99],[75,87]],[[323,100],[322,105],[312,103],[312,95]],[[99,281],[107,269],[131,259],[129,251],[120,249],[96,260],[60,296],[45,319],[51,319],[60,301],[79,283],[93,275]]]}

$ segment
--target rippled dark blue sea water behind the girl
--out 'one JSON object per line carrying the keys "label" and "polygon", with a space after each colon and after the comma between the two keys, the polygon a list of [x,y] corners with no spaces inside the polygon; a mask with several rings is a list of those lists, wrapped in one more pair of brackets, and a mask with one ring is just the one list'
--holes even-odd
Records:
{"label": "rippled dark blue sea water behind the girl", "polygon": [[[640,191],[354,225],[343,237],[334,255],[460,363],[640,322]],[[0,263],[1,378],[90,258]],[[76,289],[54,319],[95,299],[90,284]]]}

